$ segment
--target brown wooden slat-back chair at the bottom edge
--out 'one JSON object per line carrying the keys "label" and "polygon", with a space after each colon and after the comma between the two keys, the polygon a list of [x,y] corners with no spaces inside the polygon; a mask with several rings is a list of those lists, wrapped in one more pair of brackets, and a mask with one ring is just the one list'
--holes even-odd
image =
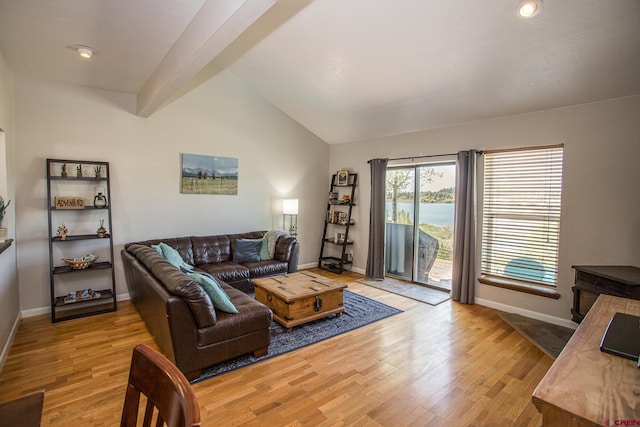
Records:
{"label": "brown wooden slat-back chair at the bottom edge", "polygon": [[200,426],[200,408],[189,381],[169,359],[144,344],[133,349],[121,427],[137,426],[140,395],[146,397],[143,426]]}

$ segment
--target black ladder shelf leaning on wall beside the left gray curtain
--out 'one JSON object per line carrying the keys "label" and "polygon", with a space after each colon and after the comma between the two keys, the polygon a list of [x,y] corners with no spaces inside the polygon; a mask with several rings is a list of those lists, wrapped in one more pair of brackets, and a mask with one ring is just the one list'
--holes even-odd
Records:
{"label": "black ladder shelf leaning on wall beside the left gray curtain", "polygon": [[352,214],[358,174],[349,173],[346,182],[339,181],[338,174],[331,177],[318,268],[342,274],[353,264],[352,252],[347,250],[353,247],[349,230],[354,226]]}

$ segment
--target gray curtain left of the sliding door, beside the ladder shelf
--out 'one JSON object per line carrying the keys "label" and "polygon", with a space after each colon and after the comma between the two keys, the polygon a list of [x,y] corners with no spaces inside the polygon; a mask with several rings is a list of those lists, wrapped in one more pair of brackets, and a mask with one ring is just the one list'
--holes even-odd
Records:
{"label": "gray curtain left of the sliding door, beside the ladder shelf", "polygon": [[366,274],[384,279],[384,199],[388,159],[369,160],[371,167],[371,210],[369,212],[369,251]]}

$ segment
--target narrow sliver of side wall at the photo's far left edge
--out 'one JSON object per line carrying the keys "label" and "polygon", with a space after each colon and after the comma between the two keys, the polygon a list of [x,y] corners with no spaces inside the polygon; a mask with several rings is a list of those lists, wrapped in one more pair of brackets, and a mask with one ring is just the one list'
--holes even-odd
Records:
{"label": "narrow sliver of side wall at the photo's far left edge", "polygon": [[[14,81],[13,72],[0,51],[0,128],[4,130],[6,169],[0,170],[0,188],[5,201],[12,200],[4,219],[9,238],[15,237],[15,166],[14,166]],[[6,189],[6,193],[4,192]],[[20,301],[18,275],[16,270],[16,245],[11,245],[0,254],[0,369],[4,364],[12,334],[15,333],[20,319]]]}

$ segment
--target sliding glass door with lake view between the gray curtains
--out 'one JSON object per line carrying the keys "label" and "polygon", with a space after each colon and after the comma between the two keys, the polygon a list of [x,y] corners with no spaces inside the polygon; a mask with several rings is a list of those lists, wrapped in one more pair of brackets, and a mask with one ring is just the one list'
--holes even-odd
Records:
{"label": "sliding glass door with lake view between the gray curtains", "polygon": [[451,289],[455,164],[390,167],[385,273]]}

